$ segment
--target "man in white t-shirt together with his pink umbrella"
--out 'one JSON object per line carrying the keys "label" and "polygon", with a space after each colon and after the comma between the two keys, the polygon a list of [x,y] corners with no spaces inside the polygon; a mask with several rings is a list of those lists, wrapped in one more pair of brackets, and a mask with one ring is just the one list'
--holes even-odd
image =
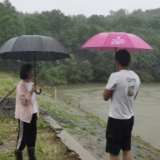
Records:
{"label": "man in white t-shirt together with his pink umbrella", "polygon": [[124,32],[99,33],[89,39],[82,48],[116,54],[116,67],[119,72],[111,74],[103,95],[105,101],[111,99],[106,151],[110,153],[111,160],[119,160],[122,149],[123,160],[131,160],[133,102],[141,82],[137,74],[128,67],[130,53],[148,52],[153,48],[140,37]]}

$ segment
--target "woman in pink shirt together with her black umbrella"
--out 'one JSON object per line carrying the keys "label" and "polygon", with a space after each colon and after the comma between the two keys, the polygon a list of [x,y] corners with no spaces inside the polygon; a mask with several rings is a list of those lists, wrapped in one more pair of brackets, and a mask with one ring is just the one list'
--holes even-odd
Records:
{"label": "woman in pink shirt together with her black umbrella", "polygon": [[17,86],[16,118],[19,121],[19,136],[15,155],[17,160],[22,160],[22,151],[27,145],[30,160],[36,160],[36,120],[39,109],[35,93],[40,94],[42,91],[36,92],[36,86],[31,84],[33,77],[36,84],[36,62],[56,61],[70,58],[70,55],[63,45],[52,37],[22,35],[5,42],[0,47],[0,56],[3,59],[34,62],[34,68],[31,65],[22,66],[22,81]]}

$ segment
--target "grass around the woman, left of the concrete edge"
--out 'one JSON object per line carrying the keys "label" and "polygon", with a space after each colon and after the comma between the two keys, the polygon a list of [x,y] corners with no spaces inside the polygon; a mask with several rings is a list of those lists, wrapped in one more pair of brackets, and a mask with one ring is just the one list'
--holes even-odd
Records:
{"label": "grass around the woman, left of the concrete edge", "polygon": [[[13,74],[0,72],[0,97],[6,95],[18,83],[19,78]],[[10,97],[15,97],[13,92]],[[18,133],[17,120],[11,117],[0,116],[0,160],[14,160],[14,149]],[[38,120],[38,137],[36,144],[37,157],[41,160],[72,160],[73,155],[69,155],[67,148],[51,131],[43,120]],[[27,159],[27,152],[24,151],[24,159]]]}

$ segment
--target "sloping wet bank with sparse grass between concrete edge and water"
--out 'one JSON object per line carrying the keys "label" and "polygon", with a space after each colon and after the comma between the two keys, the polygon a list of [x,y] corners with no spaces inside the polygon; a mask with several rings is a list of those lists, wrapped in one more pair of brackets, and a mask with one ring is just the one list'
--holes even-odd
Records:
{"label": "sloping wet bank with sparse grass between concrete edge and water", "polygon": [[[53,117],[97,160],[109,160],[105,152],[107,124],[104,121],[62,100],[41,96],[39,104],[44,114]],[[132,137],[132,155],[134,160],[160,160],[160,151],[140,137]]]}

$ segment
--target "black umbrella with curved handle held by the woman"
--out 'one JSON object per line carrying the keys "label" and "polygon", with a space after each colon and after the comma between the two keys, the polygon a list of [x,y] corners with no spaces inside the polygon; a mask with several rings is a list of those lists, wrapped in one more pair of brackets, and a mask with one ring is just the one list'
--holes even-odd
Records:
{"label": "black umbrella with curved handle held by the woman", "polygon": [[[56,61],[70,58],[63,45],[51,37],[39,35],[23,35],[12,38],[0,47],[2,59],[14,59],[21,61],[34,61],[34,73],[36,84],[36,61]],[[37,94],[41,93],[36,92]]]}

